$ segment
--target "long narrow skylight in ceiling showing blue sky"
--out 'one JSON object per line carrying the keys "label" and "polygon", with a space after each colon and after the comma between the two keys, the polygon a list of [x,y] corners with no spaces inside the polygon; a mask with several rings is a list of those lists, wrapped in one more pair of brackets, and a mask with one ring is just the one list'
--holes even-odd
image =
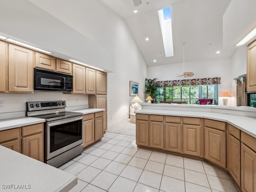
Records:
{"label": "long narrow skylight in ceiling showing blue sky", "polygon": [[173,56],[171,8],[167,7],[162,10],[159,10],[158,18],[160,22],[160,28],[162,31],[165,56],[171,57]]}

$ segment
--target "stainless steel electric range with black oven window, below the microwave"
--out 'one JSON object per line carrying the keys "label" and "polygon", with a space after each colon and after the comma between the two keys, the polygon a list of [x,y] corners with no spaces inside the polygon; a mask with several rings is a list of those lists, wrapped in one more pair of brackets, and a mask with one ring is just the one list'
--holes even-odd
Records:
{"label": "stainless steel electric range with black oven window, below the microwave", "polygon": [[58,167],[83,151],[83,114],[66,112],[66,101],[27,102],[27,116],[43,118],[44,162]]}

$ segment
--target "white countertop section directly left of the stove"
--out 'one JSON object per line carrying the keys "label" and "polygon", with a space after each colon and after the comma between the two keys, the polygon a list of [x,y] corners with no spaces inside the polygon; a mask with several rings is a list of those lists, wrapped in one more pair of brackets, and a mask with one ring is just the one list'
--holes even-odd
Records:
{"label": "white countertop section directly left of the stove", "polygon": [[11,119],[4,119],[0,120],[0,131],[33,125],[38,123],[45,122],[44,119],[34,118],[34,117],[19,117],[19,118],[11,118]]}

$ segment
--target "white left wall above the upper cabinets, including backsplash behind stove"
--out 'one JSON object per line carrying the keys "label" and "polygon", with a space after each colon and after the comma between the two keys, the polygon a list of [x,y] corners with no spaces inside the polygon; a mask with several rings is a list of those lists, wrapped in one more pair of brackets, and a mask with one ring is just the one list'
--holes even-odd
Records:
{"label": "white left wall above the upper cabinets, including backsplash behind stove", "polygon": [[[130,80],[139,83],[139,97],[144,100],[144,59],[124,20],[98,0],[10,0],[0,6],[1,14],[5,19],[0,19],[0,32],[110,72],[108,125],[128,116],[133,98],[129,96]],[[59,98],[70,106],[76,105],[77,98],[88,103],[88,96],[62,93],[0,94],[0,100],[6,102],[3,112],[24,110],[26,101]]]}

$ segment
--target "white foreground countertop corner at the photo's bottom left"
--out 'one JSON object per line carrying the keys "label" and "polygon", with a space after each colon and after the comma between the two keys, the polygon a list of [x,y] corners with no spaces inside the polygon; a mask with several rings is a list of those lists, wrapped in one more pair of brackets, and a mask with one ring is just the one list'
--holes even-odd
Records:
{"label": "white foreground countertop corner at the photo's bottom left", "polygon": [[0,191],[67,192],[77,184],[76,176],[9,148],[0,146],[0,153]]}

